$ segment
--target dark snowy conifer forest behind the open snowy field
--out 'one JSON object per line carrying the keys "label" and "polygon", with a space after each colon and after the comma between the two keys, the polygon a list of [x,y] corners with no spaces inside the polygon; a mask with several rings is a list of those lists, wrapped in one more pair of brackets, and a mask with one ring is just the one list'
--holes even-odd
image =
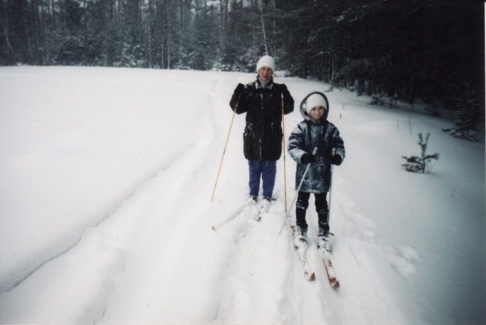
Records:
{"label": "dark snowy conifer forest behind the open snowy field", "polygon": [[0,0],[0,66],[96,66],[286,76],[485,118],[478,0]]}

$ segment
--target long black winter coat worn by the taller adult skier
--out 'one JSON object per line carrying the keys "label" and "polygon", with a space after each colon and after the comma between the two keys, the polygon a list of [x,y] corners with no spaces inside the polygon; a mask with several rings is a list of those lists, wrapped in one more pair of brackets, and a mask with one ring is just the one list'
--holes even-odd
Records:
{"label": "long black winter coat worn by the taller adult skier", "polygon": [[247,113],[243,134],[243,152],[248,160],[278,160],[282,154],[282,96],[283,112],[293,112],[293,98],[285,84],[270,84],[263,88],[259,80],[234,90],[230,101],[236,113]]}

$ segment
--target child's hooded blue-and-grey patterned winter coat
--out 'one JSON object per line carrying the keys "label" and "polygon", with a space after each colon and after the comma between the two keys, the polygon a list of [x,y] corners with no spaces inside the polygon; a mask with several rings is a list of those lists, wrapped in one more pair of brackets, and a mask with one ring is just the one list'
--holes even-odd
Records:
{"label": "child's hooded blue-and-grey patterned winter coat", "polygon": [[309,171],[305,175],[305,181],[300,188],[300,192],[306,193],[327,193],[331,184],[331,162],[332,149],[336,149],[336,154],[341,155],[342,159],[346,154],[344,141],[339,135],[337,127],[327,120],[329,105],[322,118],[314,122],[300,106],[300,113],[304,119],[288,139],[288,154],[297,162],[295,172],[295,190],[298,189],[303,178],[307,164],[302,164],[303,154],[312,154],[317,147],[317,158],[310,165]]}

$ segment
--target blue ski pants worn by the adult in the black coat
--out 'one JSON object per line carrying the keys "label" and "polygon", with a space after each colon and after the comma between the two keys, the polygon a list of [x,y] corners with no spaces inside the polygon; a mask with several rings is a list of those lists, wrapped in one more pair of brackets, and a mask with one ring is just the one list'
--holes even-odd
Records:
{"label": "blue ski pants worn by the adult in the black coat", "polygon": [[249,160],[250,171],[250,196],[257,197],[260,190],[260,178],[263,181],[264,196],[272,198],[275,176],[277,173],[277,161]]}

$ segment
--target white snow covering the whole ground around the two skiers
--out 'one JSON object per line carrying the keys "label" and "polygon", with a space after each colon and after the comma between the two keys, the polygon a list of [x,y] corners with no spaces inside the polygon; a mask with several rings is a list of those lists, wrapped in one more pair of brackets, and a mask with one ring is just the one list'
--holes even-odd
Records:
{"label": "white snow covering the whole ground around the two skiers", "polygon": [[[254,74],[0,68],[1,324],[486,324],[485,144],[422,106],[327,93],[332,290],[310,232],[307,282],[285,215],[283,159],[261,222],[246,207],[238,82]],[[298,105],[329,85],[277,78]],[[431,173],[409,173],[430,132]],[[286,154],[287,201],[295,162]],[[317,215],[311,197],[307,220]],[[290,211],[292,215],[293,211]],[[288,224],[293,222],[288,220]],[[222,223],[223,222],[223,223]],[[214,231],[213,226],[219,225]]]}

